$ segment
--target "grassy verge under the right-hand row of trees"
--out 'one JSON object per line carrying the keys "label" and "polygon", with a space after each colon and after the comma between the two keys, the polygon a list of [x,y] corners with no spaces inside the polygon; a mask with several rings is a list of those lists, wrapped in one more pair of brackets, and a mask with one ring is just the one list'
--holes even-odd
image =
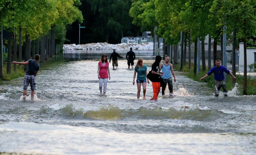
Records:
{"label": "grassy verge under the right-hand row of trees", "polygon": [[[178,71],[180,71],[180,65],[177,64],[175,65],[176,69]],[[200,80],[200,78],[202,78],[205,74],[207,74],[208,71],[202,71],[202,67],[200,69],[200,72],[196,75],[194,75],[194,64],[192,64],[191,69],[188,68],[188,63],[186,63],[186,65],[183,67],[182,72],[186,72],[186,76],[188,78],[191,78],[195,81],[200,81],[200,82],[207,82],[207,86],[212,88],[214,90],[214,86],[215,86],[215,79],[214,79],[214,75],[212,74],[211,76],[205,78],[204,80]],[[243,76],[241,75],[236,75],[236,83],[238,84],[238,95],[242,95],[243,94]],[[230,75],[227,75],[227,82],[226,82],[226,86],[227,86],[227,91],[228,90],[232,90],[234,88],[234,84],[232,82],[232,77]],[[247,76],[247,95],[256,95],[256,78]]]}

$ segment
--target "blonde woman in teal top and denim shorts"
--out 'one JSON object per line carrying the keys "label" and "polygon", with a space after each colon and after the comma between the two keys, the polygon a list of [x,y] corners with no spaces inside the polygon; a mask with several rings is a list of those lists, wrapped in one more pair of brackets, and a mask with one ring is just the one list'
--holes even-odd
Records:
{"label": "blonde woman in teal top and denim shorts", "polygon": [[147,80],[148,80],[148,83],[149,83],[149,79],[147,78],[147,66],[146,65],[143,65],[143,59],[142,58],[139,58],[138,59],[138,62],[134,68],[134,74],[133,74],[133,82],[132,84],[134,85],[135,84],[135,77],[136,77],[136,73],[138,73],[137,75],[137,88],[138,88],[138,91],[137,91],[137,98],[139,99],[140,98],[140,87],[141,87],[141,83],[142,83],[142,88],[143,88],[143,99],[145,100],[146,99],[146,88],[147,88]]}

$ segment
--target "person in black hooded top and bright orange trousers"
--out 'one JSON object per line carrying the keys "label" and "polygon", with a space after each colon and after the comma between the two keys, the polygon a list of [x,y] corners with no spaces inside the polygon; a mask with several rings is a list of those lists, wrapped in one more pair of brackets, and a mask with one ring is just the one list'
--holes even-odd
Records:
{"label": "person in black hooded top and bright orange trousers", "polygon": [[153,86],[153,98],[151,98],[150,100],[154,100],[157,101],[158,98],[158,94],[160,92],[160,81],[161,81],[161,76],[163,76],[163,73],[160,72],[160,67],[159,64],[162,60],[161,56],[156,56],[155,58],[155,62],[152,64],[152,69],[151,69],[151,73],[152,73],[152,86]]}

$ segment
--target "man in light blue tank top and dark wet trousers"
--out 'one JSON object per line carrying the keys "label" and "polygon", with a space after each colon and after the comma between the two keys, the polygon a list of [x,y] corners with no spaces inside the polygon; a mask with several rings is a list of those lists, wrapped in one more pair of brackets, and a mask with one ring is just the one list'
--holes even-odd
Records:
{"label": "man in light blue tank top and dark wet trousers", "polygon": [[[173,66],[172,66],[172,64],[169,63],[169,61],[170,61],[170,57],[165,56],[164,62],[160,64],[160,70],[162,69],[162,72],[163,72],[162,78],[164,81],[164,85],[162,86],[162,95],[164,95],[164,90],[168,83],[170,96],[172,96],[172,93],[173,93],[172,76],[174,78],[174,82],[176,82],[176,78],[175,78],[175,74],[173,71]],[[171,76],[171,72],[172,72],[172,76]]]}

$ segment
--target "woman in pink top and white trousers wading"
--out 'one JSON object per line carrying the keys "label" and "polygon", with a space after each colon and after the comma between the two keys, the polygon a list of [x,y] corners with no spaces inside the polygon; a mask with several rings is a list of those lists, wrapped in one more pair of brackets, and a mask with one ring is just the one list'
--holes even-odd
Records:
{"label": "woman in pink top and white trousers wading", "polygon": [[109,63],[106,54],[102,54],[101,61],[98,63],[98,78],[100,94],[102,94],[103,86],[103,94],[105,95],[107,91],[108,78],[110,79]]}

